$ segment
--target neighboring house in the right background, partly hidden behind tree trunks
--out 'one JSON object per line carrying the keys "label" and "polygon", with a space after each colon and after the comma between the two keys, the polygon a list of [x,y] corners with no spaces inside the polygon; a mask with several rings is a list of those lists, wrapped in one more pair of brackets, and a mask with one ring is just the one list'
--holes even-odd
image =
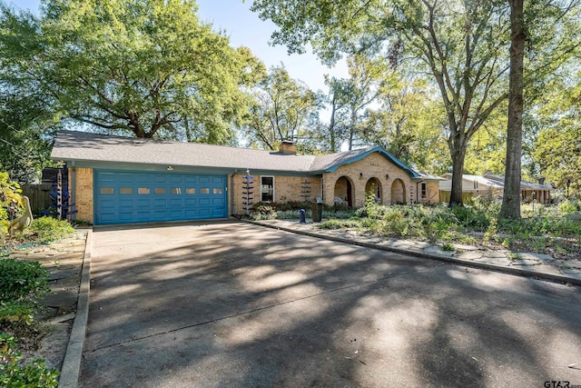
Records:
{"label": "neighboring house in the right background, partly hidden behind tree trunks", "polygon": [[[441,176],[445,180],[439,183],[440,200],[449,202],[452,190],[452,174],[443,174]],[[465,201],[478,195],[502,197],[504,188],[505,178],[502,175],[462,175],[462,199]],[[533,184],[526,181],[521,181],[520,183],[520,194],[523,201],[531,201],[534,198],[540,204],[548,204],[551,201],[552,190],[553,187],[550,184]]]}

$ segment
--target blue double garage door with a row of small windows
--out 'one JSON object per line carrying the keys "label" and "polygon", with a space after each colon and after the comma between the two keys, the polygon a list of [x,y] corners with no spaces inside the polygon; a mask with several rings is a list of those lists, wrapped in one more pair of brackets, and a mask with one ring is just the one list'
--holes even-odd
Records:
{"label": "blue double garage door with a row of small windows", "polygon": [[227,217],[226,175],[95,170],[94,224]]}

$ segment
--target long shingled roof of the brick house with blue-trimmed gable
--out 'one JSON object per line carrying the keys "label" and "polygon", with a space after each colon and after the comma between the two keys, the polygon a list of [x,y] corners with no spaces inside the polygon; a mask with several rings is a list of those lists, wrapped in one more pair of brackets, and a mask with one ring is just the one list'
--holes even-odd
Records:
{"label": "long shingled roof of the brick house with blue-trimmed gable", "polygon": [[67,162],[163,164],[222,169],[242,169],[322,174],[378,152],[398,165],[409,176],[419,174],[382,147],[369,147],[326,155],[282,154],[223,145],[170,142],[135,137],[59,131],[51,158]]}

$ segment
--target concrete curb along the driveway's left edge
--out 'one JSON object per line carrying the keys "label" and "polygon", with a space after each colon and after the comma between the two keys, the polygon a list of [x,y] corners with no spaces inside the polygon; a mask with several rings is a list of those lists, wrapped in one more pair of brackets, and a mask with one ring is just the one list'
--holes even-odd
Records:
{"label": "concrete curb along the driveway's left edge", "polygon": [[81,373],[83,360],[84,336],[87,331],[89,318],[89,291],[91,290],[91,251],[93,247],[93,230],[87,232],[84,245],[83,270],[81,271],[81,285],[76,305],[73,329],[69,336],[69,343],[64,354],[63,367],[59,378],[59,388],[76,388]]}

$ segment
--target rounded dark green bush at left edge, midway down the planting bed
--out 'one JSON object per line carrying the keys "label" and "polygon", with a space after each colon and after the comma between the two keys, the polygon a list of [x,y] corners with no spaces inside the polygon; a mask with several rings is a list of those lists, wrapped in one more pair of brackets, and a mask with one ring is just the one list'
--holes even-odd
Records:
{"label": "rounded dark green bush at left edge, midway down the planting bed", "polygon": [[38,262],[0,259],[0,300],[38,300],[49,292],[48,278]]}

